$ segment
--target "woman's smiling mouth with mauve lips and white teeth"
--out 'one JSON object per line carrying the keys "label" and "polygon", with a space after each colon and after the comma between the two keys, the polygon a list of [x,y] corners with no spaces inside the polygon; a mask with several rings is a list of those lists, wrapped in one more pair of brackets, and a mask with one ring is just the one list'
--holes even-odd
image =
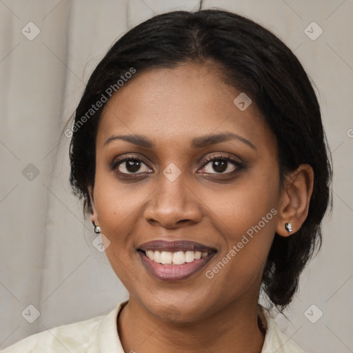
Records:
{"label": "woman's smiling mouth with mauve lips and white teeth", "polygon": [[199,272],[216,250],[191,241],[152,241],[137,249],[146,270],[161,281],[183,281]]}

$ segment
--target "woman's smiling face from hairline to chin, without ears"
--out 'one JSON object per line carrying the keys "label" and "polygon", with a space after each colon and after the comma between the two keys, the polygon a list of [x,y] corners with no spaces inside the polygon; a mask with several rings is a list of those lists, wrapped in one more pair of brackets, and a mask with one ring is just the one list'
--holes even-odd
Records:
{"label": "woman's smiling face from hairline to chin, without ears", "polygon": [[255,104],[234,103],[240,93],[207,66],[153,69],[101,116],[92,219],[130,298],[161,319],[257,303],[279,165]]}

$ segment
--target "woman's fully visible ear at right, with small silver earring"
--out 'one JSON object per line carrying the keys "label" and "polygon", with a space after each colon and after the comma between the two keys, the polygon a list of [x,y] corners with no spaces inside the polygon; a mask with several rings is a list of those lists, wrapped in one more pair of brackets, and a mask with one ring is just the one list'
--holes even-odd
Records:
{"label": "woman's fully visible ear at right, with small silver earring", "polygon": [[277,234],[290,236],[290,233],[285,229],[285,223],[292,224],[292,233],[298,232],[301,228],[309,212],[313,185],[314,171],[309,164],[299,165],[298,169],[286,177],[281,192]]}

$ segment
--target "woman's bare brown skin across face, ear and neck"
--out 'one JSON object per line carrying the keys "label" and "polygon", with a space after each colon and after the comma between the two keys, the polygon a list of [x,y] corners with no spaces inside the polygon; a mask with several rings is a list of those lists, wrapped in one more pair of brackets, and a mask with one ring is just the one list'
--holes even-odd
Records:
{"label": "woman's bare brown skin across face, ear and neck", "polygon": [[[296,232],[305,221],[314,176],[310,165],[301,165],[280,188],[276,138],[254,102],[244,111],[234,105],[239,93],[214,65],[189,63],[137,72],[103,110],[91,219],[109,239],[105,252],[130,293],[118,321],[125,352],[261,352],[256,305],[263,267],[274,233],[289,236],[286,222]],[[237,139],[190,147],[194,137],[219,132],[255,148]],[[105,143],[125,134],[144,135],[154,147]],[[228,162],[217,173],[205,162],[212,154],[241,161],[243,168]],[[140,169],[131,172],[124,162],[110,168],[119,156],[141,159]],[[163,174],[170,163],[181,171],[175,181]],[[276,215],[208,279],[205,272],[272,209]],[[217,253],[189,279],[164,282],[149,274],[136,251],[156,239],[196,241]]]}

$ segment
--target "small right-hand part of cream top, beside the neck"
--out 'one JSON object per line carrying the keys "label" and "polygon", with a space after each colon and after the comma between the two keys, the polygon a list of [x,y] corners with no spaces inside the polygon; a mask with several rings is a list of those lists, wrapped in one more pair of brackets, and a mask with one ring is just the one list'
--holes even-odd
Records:
{"label": "small right-hand part of cream top, beside the neck", "polygon": [[270,312],[261,305],[259,305],[259,316],[266,331],[261,353],[305,353],[292,339],[281,332]]}

